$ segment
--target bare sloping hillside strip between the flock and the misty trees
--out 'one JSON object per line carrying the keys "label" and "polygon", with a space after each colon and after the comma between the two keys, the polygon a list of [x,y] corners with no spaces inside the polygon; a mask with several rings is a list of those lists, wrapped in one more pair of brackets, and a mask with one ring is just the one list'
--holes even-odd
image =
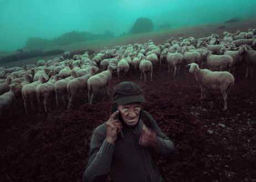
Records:
{"label": "bare sloping hillside strip between the flock and the misty trees", "polygon": [[[236,30],[247,31],[248,28],[255,28],[256,18],[242,19],[239,22],[233,23],[214,23],[214,24],[205,24],[205,25],[197,25],[197,26],[187,26],[183,28],[177,29],[167,29],[164,31],[155,31],[152,33],[146,34],[136,34],[136,35],[127,35],[127,36],[119,36],[111,39],[103,39],[103,40],[90,40],[85,42],[77,42],[70,45],[65,46],[51,46],[45,47],[45,51],[48,50],[66,50],[66,51],[74,51],[74,50],[85,50],[90,49],[95,52],[99,52],[103,50],[104,47],[108,47],[111,49],[115,45],[127,45],[127,44],[135,44],[135,43],[144,43],[148,40],[153,40],[156,45],[163,44],[167,39],[170,38],[179,38],[182,36],[183,38],[188,38],[190,36],[194,36],[194,38],[201,38],[204,36],[209,36],[210,34],[219,34],[222,36],[223,31],[229,31],[233,33]],[[222,28],[219,28],[222,27]],[[0,52],[0,57],[3,55],[6,56],[8,54],[12,54],[12,52]],[[9,63],[0,63],[0,66],[22,66],[25,63],[35,63],[39,59],[49,60],[59,55],[48,56],[48,57],[36,57],[29,58],[27,60],[17,61],[17,62],[9,62]]]}

